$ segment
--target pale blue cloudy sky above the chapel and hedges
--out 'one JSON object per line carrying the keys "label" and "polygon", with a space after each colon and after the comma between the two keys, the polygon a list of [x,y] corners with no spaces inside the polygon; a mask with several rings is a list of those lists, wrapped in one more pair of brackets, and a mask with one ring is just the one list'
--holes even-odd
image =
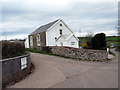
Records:
{"label": "pale blue cloudy sky above the chapel and hedges", "polygon": [[2,0],[0,11],[3,40],[27,38],[56,19],[62,19],[76,36],[117,35],[118,0]]}

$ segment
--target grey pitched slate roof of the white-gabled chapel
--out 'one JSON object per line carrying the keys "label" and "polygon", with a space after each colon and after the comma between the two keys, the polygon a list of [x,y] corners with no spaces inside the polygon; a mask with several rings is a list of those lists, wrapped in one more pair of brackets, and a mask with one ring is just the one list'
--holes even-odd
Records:
{"label": "grey pitched slate roof of the white-gabled chapel", "polygon": [[[58,19],[59,20],[59,19]],[[37,33],[41,33],[41,32],[45,32],[47,31],[47,29],[49,29],[52,25],[54,25],[58,20],[55,20],[53,22],[50,22],[48,24],[45,24],[43,26],[40,26],[39,28],[37,28],[34,32],[32,32],[30,35],[34,35]]]}

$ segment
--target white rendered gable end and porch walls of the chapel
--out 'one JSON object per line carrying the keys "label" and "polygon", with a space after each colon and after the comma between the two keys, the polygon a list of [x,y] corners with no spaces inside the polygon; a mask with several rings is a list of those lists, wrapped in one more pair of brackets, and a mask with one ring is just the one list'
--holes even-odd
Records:
{"label": "white rendered gable end and porch walls of the chapel", "polygon": [[[62,24],[62,26],[60,26]],[[62,34],[72,34],[72,32],[64,25],[62,21],[53,26],[50,30],[46,31],[46,46],[61,46],[60,42],[55,41],[55,37],[60,36],[59,29],[62,29]],[[71,46],[71,42],[75,42],[75,45]],[[63,46],[70,46],[78,48],[78,41],[72,36],[69,41],[63,42]]]}

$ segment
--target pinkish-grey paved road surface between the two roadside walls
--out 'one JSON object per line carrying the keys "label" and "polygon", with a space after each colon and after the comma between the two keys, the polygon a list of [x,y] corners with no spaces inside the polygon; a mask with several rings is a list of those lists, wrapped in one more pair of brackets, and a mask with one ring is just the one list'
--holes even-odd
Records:
{"label": "pinkish-grey paved road surface between the two roadside walls", "polygon": [[8,88],[118,88],[118,53],[92,62],[31,53],[34,73]]}

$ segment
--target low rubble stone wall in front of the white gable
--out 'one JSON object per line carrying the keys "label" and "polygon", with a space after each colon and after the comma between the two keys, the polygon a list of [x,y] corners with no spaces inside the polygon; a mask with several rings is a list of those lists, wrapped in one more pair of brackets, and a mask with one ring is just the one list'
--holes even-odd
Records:
{"label": "low rubble stone wall in front of the white gable", "polygon": [[61,46],[54,46],[50,48],[53,54],[79,60],[104,61],[107,60],[108,57],[108,53],[105,50],[79,49]]}

